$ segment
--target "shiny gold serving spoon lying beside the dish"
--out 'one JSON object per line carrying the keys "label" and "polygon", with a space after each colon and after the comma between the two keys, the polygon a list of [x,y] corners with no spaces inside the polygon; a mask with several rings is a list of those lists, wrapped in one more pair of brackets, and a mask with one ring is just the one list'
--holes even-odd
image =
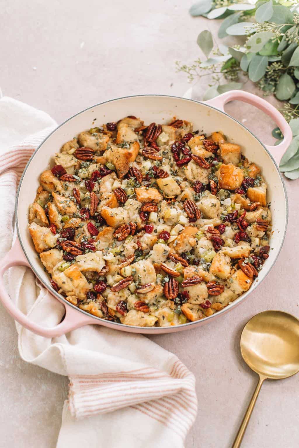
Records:
{"label": "shiny gold serving spoon lying beside the dish", "polygon": [[242,442],[264,379],[282,379],[299,371],[299,320],[283,311],[263,311],[252,317],[241,334],[241,354],[259,376],[232,448]]}

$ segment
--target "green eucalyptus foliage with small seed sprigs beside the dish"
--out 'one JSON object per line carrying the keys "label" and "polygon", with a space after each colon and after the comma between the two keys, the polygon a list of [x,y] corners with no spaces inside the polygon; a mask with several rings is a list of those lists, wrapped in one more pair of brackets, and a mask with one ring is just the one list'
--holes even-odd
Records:
{"label": "green eucalyptus foliage with small seed sprigs beside the dish", "polygon": [[[219,45],[213,49],[209,31],[202,31],[197,43],[207,60],[180,65],[189,81],[208,76],[210,86],[204,100],[232,89],[241,89],[240,75],[256,82],[264,95],[273,94],[285,101],[282,114],[290,123],[293,140],[282,157],[280,169],[289,179],[299,178],[299,14],[296,0],[202,0],[190,9],[192,16],[223,19],[218,38],[241,38],[243,47]],[[277,143],[280,129],[272,132]]]}

